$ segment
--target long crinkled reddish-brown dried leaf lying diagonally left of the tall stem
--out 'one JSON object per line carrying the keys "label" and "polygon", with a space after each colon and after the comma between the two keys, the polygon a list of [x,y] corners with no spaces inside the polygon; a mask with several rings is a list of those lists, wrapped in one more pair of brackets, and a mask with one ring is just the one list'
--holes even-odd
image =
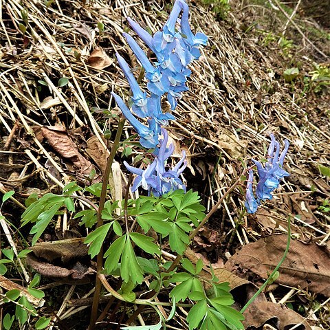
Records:
{"label": "long crinkled reddish-brown dried leaf lying diagonally left of the tall stem", "polygon": [[[80,174],[89,175],[94,166],[78,151],[76,144],[67,135],[63,126],[43,126],[34,131],[36,138],[42,141],[43,138],[59,153],[62,157],[74,163],[71,170],[80,170]],[[67,164],[69,167],[69,164]]]}

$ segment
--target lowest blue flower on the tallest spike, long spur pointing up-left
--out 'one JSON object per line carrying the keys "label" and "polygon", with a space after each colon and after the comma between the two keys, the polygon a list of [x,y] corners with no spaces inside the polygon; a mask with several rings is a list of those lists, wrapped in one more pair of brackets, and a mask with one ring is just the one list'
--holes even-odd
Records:
{"label": "lowest blue flower on the tallest spike, long spur pointing up-left", "polygon": [[115,98],[115,102],[118,104],[118,107],[120,107],[122,114],[127,120],[129,120],[135,131],[137,131],[137,134],[140,135],[140,144],[144,146],[144,148],[155,148],[159,142],[157,125],[155,122],[148,120],[148,126],[144,126],[144,124],[139,122],[139,120],[134,117],[120,96],[113,92],[111,94],[113,98]]}

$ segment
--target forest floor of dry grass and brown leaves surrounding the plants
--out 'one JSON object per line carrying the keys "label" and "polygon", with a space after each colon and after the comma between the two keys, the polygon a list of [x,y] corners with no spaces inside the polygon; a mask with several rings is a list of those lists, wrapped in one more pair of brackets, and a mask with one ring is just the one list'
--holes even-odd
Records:
{"label": "forest floor of dry grass and brown leaves surrounding the plants", "polygon": [[[70,181],[84,187],[102,179],[106,148],[121,116],[111,91],[129,91],[115,52],[128,54],[137,67],[122,36],[129,29],[125,17],[155,32],[171,8],[162,0],[84,2],[0,2],[0,191],[15,191],[15,200],[4,203],[1,212],[19,249],[31,241],[31,227],[20,228],[19,202],[32,194],[60,193]],[[189,91],[175,110],[177,120],[168,126],[175,155],[186,151],[188,156],[187,187],[198,191],[210,210],[252,158],[265,159],[271,133],[281,145],[290,142],[284,166],[290,176],[256,214],[242,212],[243,183],[223,201],[186,256],[212,263],[217,276],[232,285],[237,304],[242,303],[251,293],[249,285],[260,286],[280,261],[290,217],[294,243],[287,261],[259,305],[245,315],[244,325],[329,329],[329,5],[234,0],[228,7],[223,2],[189,3],[193,30],[203,31],[209,41],[190,67]],[[132,133],[126,124],[123,138]],[[115,160],[122,164],[141,154],[127,145]],[[125,186],[124,166],[118,177]],[[8,248],[2,230],[1,248]],[[77,219],[65,214],[39,242],[86,234]],[[19,278],[14,268],[5,276]],[[87,328],[94,282],[74,284],[43,276],[47,304],[41,315],[56,312],[53,329]],[[81,297],[87,306],[78,304]],[[1,318],[12,308],[3,306]],[[150,313],[144,311],[142,318],[148,320]],[[104,320],[108,317],[113,320],[111,310]],[[184,314],[171,327],[188,329]]]}

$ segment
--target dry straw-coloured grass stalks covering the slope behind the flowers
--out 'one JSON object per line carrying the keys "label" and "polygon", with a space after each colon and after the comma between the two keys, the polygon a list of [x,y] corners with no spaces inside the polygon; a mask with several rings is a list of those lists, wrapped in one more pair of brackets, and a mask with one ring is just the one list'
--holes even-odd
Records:
{"label": "dry straw-coloured grass stalks covering the slope behind the flowers", "polygon": [[[48,188],[54,189],[54,183],[63,186],[77,179],[49,146],[36,139],[34,126],[83,127],[86,138],[96,135],[105,147],[102,133],[107,129],[115,131],[116,120],[104,120],[102,112],[93,112],[91,108],[118,113],[113,110],[110,92],[128,96],[129,87],[114,56],[115,52],[129,53],[122,37],[127,28],[125,17],[134,17],[155,32],[166,21],[168,7],[159,1],[127,0],[116,0],[111,5],[102,0],[87,5],[56,0],[48,7],[36,0],[0,3],[1,134],[9,136],[14,129],[19,137],[14,137],[14,147],[1,152],[3,164],[12,161],[1,182],[10,184],[9,175],[18,171],[15,166],[23,165],[19,177],[23,178],[20,192],[24,196],[28,188],[24,185],[31,180],[41,178],[49,183]],[[190,90],[179,102],[177,121],[170,127],[170,135],[177,153],[181,148],[188,149],[192,171],[188,177],[197,182],[188,182],[188,186],[199,190],[208,208],[239,175],[242,162],[264,157],[270,133],[276,133],[280,141],[287,138],[291,146],[286,169],[292,176],[278,190],[274,202],[267,203],[256,217],[243,219],[237,230],[237,243],[249,243],[269,230],[259,221],[263,211],[267,210],[271,220],[285,230],[287,217],[299,214],[299,207],[305,212],[303,217],[294,217],[294,231],[300,238],[329,239],[329,215],[317,210],[321,199],[330,193],[329,178],[327,181],[318,172],[318,164],[330,166],[329,94],[324,91],[316,95],[312,89],[305,93],[303,83],[303,76],[308,76],[314,61],[327,65],[329,58],[322,58],[320,52],[329,53],[329,44],[322,50],[320,45],[313,47],[308,42],[306,47],[302,43],[285,49],[277,40],[270,41],[270,36],[278,32],[270,34],[266,28],[253,27],[249,30],[253,23],[248,15],[251,10],[254,21],[263,15],[274,15],[276,21],[276,11],[261,8],[262,14],[257,10],[259,6],[236,1],[228,21],[218,21],[210,8],[191,4],[191,24],[196,31],[206,33],[210,42],[191,67]],[[22,11],[27,12],[25,22]],[[102,33],[97,30],[98,22],[105,26]],[[288,29],[292,29],[291,23]],[[113,59],[107,69],[94,69],[88,64],[87,59],[97,46]],[[131,61],[134,65],[132,57]],[[300,78],[290,85],[285,83],[283,71],[294,66],[300,66]],[[57,87],[63,77],[69,79],[68,85]],[[45,81],[47,87],[40,85],[39,80]],[[48,96],[57,100],[51,107],[45,107],[43,102]],[[129,126],[126,132],[131,134]],[[17,151],[21,154],[15,154]],[[46,164],[56,168],[58,177],[54,178]],[[52,181],[46,180],[45,175]],[[242,198],[237,190],[223,204],[221,212],[233,228],[236,214],[242,210]],[[211,225],[216,224],[211,221]],[[72,310],[69,315],[72,316]]]}

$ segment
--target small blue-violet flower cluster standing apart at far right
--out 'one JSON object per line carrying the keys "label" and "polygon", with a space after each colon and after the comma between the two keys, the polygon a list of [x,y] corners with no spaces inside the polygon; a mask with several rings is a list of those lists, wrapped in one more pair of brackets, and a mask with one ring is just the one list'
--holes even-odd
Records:
{"label": "small blue-violet flower cluster standing apart at far right", "polygon": [[256,198],[254,197],[253,184],[253,170],[249,170],[249,179],[246,187],[245,207],[248,213],[256,212],[261,201],[272,199],[272,192],[278,188],[280,181],[289,176],[287,171],[283,170],[283,162],[287,150],[289,149],[289,141],[284,141],[284,148],[280,155],[280,144],[275,140],[274,134],[270,135],[271,143],[268,148],[268,160],[265,167],[255,159],[252,159],[258,170],[259,182],[256,185]]}

